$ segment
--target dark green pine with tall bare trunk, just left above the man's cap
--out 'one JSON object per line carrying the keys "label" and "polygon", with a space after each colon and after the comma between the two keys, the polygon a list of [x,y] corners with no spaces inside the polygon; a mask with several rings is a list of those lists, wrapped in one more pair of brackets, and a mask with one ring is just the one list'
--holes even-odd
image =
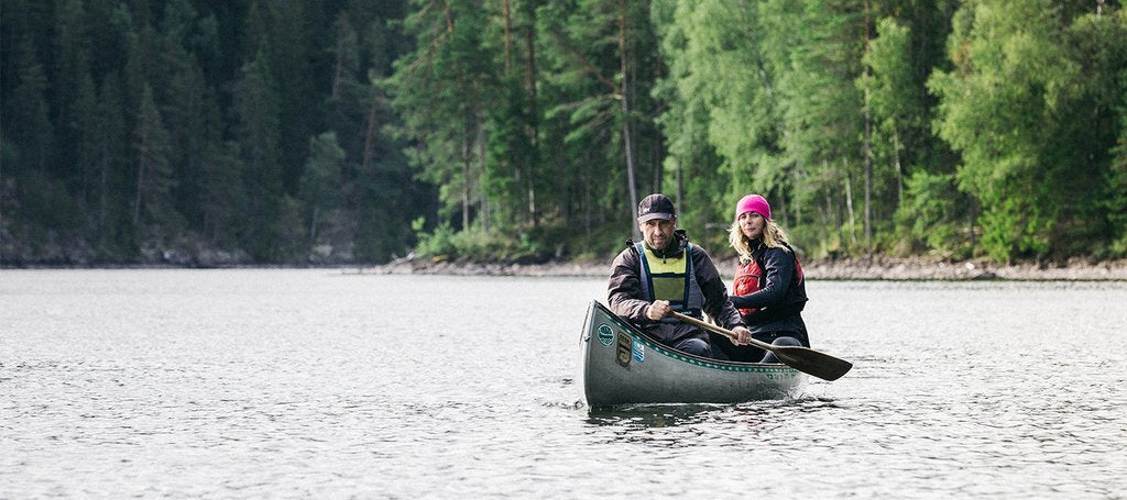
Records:
{"label": "dark green pine with tall bare trunk, just left above the man's cap", "polygon": [[[560,205],[579,208],[584,226],[613,221],[637,233],[639,189],[663,189],[650,97],[662,68],[649,2],[548,1],[536,18],[547,38],[543,142],[556,150],[544,158],[564,163],[553,171],[567,189],[557,193],[574,199]],[[615,215],[607,221],[604,211]]]}

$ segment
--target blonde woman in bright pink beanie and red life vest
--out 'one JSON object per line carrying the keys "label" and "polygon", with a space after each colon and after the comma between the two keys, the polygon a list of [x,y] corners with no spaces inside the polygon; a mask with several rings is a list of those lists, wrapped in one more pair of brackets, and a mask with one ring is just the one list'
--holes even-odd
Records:
{"label": "blonde woman in bright pink beanie and red life vest", "polygon": [[[787,233],[771,218],[765,198],[740,198],[728,241],[739,255],[731,303],[752,337],[777,346],[810,347],[801,315],[807,301],[802,267]],[[774,354],[753,346],[734,346],[719,338],[711,343],[736,361],[779,363]]]}

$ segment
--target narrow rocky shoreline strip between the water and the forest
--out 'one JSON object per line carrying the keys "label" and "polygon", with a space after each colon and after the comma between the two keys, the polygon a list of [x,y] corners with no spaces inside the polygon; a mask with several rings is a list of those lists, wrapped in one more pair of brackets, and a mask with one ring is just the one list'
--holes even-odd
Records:
{"label": "narrow rocky shoreline strip between the water and the forest", "polygon": [[[736,261],[717,262],[721,276],[731,276]],[[1072,259],[1063,264],[999,265],[988,260],[948,261],[939,259],[873,257],[871,259],[820,259],[802,264],[809,279],[875,280],[1127,280],[1127,259],[1090,262]],[[542,276],[606,277],[605,262],[460,262],[425,258],[361,267],[361,274],[374,275],[452,275],[452,276]]]}

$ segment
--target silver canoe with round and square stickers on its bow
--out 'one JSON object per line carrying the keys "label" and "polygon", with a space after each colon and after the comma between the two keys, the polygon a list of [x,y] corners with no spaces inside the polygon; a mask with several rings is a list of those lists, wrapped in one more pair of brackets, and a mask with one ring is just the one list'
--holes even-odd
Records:
{"label": "silver canoe with round and square stickers on its bow", "polygon": [[663,346],[598,301],[587,309],[580,343],[589,407],[784,399],[806,385],[806,374],[786,365],[721,361]]}

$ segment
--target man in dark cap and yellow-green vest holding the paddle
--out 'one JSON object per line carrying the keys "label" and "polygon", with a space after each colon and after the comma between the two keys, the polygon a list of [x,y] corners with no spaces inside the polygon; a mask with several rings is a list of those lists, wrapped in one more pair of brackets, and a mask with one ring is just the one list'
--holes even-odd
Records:
{"label": "man in dark cap and yellow-green vest holding the paddle", "polygon": [[638,227],[645,241],[628,240],[614,258],[607,286],[611,311],[659,342],[698,356],[724,355],[710,346],[708,332],[669,318],[669,311],[696,319],[707,313],[737,334],[737,345],[747,343],[752,332],[731,305],[708,252],[677,229],[673,202],[662,194],[647,196],[638,204]]}

